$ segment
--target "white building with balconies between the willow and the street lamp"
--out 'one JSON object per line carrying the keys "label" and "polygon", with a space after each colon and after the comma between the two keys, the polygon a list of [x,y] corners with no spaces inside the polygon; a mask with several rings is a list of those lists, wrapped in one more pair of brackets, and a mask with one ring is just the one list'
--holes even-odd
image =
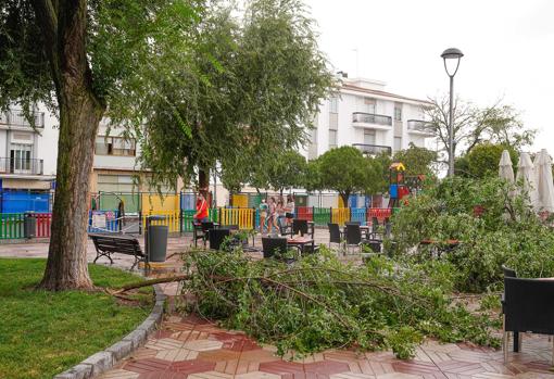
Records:
{"label": "white building with balconies between the willow and the street lamp", "polygon": [[329,149],[354,146],[368,154],[425,147],[432,137],[425,127],[424,100],[385,91],[385,83],[342,78],[339,93],[324,101],[303,152],[316,159]]}

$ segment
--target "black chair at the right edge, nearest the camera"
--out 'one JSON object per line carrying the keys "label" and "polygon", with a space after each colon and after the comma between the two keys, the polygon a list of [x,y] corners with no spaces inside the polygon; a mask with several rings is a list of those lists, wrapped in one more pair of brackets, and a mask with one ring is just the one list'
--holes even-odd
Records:
{"label": "black chair at the right edge, nearest the camera", "polygon": [[[513,271],[513,270],[512,270]],[[554,334],[554,280],[504,278],[504,361],[507,361],[508,332]],[[517,341],[519,342],[519,341]],[[519,351],[514,338],[514,351]],[[553,349],[554,363],[554,349]]]}

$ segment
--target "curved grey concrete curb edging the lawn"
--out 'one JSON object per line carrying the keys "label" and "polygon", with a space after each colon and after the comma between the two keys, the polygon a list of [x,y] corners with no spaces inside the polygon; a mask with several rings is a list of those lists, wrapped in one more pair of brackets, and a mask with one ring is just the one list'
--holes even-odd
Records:
{"label": "curved grey concrete curb edging the lawn", "polygon": [[142,324],[128,333],[119,342],[114,343],[106,350],[92,354],[81,363],[68,370],[59,374],[54,379],[89,379],[111,369],[118,361],[143,345],[148,336],[162,323],[164,303],[167,298],[159,285],[154,286],[155,304]]}

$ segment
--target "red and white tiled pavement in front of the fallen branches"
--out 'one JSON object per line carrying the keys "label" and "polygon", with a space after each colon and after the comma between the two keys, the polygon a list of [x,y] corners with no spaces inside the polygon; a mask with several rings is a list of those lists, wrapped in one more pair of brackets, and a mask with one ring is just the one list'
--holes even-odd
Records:
{"label": "red and white tiled pavement in front of the fallen branches", "polygon": [[524,338],[522,353],[429,341],[410,361],[390,352],[326,351],[280,358],[241,332],[194,316],[166,316],[148,343],[97,379],[554,379],[552,343]]}

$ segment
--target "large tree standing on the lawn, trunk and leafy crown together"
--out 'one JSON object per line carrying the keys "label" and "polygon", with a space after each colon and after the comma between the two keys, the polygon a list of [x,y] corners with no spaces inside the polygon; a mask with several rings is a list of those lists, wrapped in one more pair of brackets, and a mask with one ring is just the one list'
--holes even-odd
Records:
{"label": "large tree standing on the lawn, trunk and leafy crown together", "polygon": [[106,112],[140,119],[149,102],[164,99],[173,67],[189,64],[190,30],[202,10],[194,0],[0,2],[0,110],[17,104],[33,121],[33,106],[43,102],[59,116],[56,193],[41,288],[92,286],[86,227],[98,125]]}

